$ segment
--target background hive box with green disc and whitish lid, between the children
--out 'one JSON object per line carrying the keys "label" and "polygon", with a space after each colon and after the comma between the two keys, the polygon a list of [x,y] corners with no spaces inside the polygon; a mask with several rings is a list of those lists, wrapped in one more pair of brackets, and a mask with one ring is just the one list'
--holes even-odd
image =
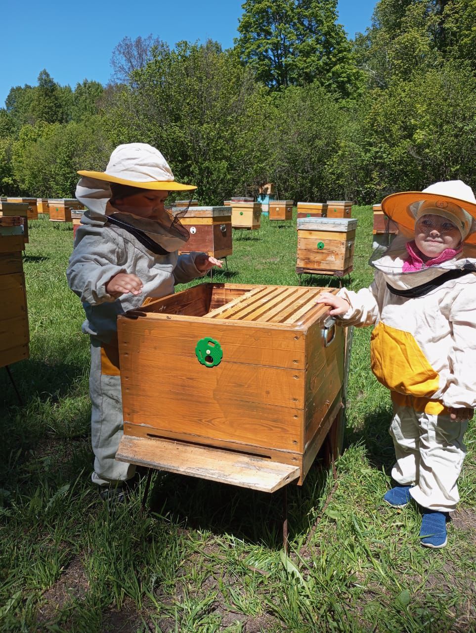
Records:
{"label": "background hive box with green disc and whitish lid, between the children", "polygon": [[353,270],[357,220],[301,218],[297,220],[296,272],[337,275]]}

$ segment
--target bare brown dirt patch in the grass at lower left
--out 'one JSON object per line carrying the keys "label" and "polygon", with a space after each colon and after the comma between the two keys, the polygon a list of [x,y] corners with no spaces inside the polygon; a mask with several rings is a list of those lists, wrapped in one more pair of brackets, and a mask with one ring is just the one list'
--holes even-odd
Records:
{"label": "bare brown dirt patch in the grass at lower left", "polygon": [[43,594],[43,604],[37,615],[38,623],[44,624],[53,620],[67,602],[72,599],[84,599],[87,591],[89,591],[89,582],[82,561],[80,558],[73,558],[53,587]]}

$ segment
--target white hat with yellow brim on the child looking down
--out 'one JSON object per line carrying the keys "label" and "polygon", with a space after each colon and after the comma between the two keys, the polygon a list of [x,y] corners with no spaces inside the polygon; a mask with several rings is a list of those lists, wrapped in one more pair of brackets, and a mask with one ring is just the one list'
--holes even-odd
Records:
{"label": "white hat with yellow brim on the child looking down", "polygon": [[147,143],[119,145],[104,172],[81,170],[80,176],[157,191],[193,191],[197,187],[177,182],[160,151]]}

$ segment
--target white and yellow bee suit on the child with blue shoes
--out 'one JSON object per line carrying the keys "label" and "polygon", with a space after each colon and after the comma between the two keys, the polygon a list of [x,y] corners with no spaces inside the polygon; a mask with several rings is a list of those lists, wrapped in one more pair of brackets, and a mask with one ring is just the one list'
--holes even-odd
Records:
{"label": "white and yellow bee suit on the child with blue shoes", "polygon": [[[391,390],[392,477],[423,508],[453,511],[466,448],[467,422],[449,408],[476,406],[476,260],[453,260],[402,272],[404,241],[373,262],[375,279],[358,292],[341,289],[350,308],[342,325],[374,324],[371,366]],[[460,276],[461,271],[465,274]]]}

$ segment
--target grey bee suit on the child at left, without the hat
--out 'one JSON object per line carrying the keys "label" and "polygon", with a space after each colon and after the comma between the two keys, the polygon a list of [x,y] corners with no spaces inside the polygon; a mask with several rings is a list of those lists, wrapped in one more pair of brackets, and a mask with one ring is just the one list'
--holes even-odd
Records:
{"label": "grey bee suit on the child at left, without the hat", "polygon": [[[91,375],[89,389],[92,402],[91,430],[94,451],[92,480],[99,486],[130,479],[134,466],[115,460],[123,434],[122,398],[116,319],[138,308],[146,297],[172,294],[175,284],[201,277],[195,266],[197,253],[178,255],[180,241],[166,230],[149,232],[154,242],[167,254],[155,254],[134,235],[112,225],[106,216],[111,191],[106,182],[83,177],[76,197],[87,206],[77,230],[75,248],[66,276],[70,288],[81,299],[86,313],[82,331],[91,336]],[[151,222],[115,213],[113,218],[151,229]],[[181,242],[184,240],[182,239]],[[175,250],[173,250],[175,249]],[[115,298],[106,292],[107,282],[118,273],[133,273],[141,279],[141,294],[123,294]]]}

